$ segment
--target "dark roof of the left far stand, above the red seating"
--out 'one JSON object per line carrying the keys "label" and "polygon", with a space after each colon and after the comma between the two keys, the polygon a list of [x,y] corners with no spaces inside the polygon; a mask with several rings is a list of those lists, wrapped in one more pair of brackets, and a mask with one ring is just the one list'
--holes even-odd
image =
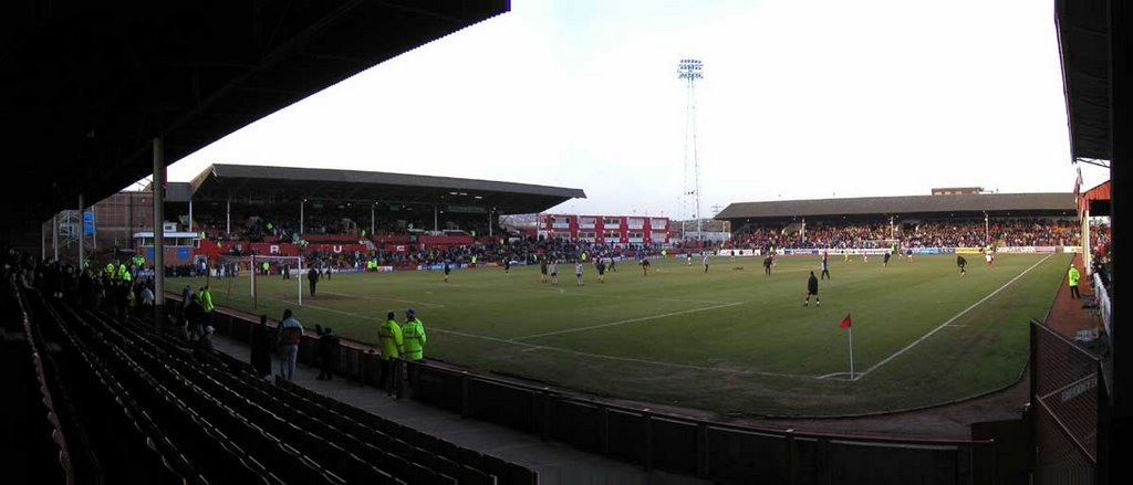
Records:
{"label": "dark roof of the left far stand, above the red seating", "polygon": [[[333,168],[214,164],[188,183],[171,185],[170,201],[299,202],[303,199],[482,207],[496,214],[539,213],[573,198],[579,189],[525,183]],[[459,210],[459,209],[453,209]]]}

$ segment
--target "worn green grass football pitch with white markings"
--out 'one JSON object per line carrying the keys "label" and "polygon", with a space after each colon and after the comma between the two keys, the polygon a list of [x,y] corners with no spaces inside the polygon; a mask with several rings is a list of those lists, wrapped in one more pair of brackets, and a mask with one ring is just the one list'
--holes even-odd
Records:
{"label": "worn green grass football pitch with white markings", "polygon": [[[561,265],[559,285],[538,267],[342,274],[321,279],[303,306],[297,279],[213,279],[218,305],[280,318],[295,310],[306,328],[375,343],[387,311],[416,309],[428,335],[426,358],[521,376],[599,396],[727,415],[834,416],[909,409],[978,396],[1013,383],[1028,358],[1028,322],[1043,319],[1070,254],[1000,254],[988,267],[954,256],[913,262],[830,257],[821,305],[803,306],[817,257],[632,261],[597,282],[593,263],[577,286]],[[203,278],[172,278],[194,288]],[[854,374],[849,331],[853,321]]]}

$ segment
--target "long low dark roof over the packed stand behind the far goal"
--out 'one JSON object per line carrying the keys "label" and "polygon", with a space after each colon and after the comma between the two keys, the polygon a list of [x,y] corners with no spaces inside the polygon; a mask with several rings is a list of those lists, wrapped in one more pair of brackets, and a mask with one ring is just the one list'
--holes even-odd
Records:
{"label": "long low dark roof over the packed stand behind the far goal", "polygon": [[861,197],[731,203],[715,218],[790,219],[793,217],[910,216],[942,214],[1075,214],[1073,193],[976,193],[954,196]]}

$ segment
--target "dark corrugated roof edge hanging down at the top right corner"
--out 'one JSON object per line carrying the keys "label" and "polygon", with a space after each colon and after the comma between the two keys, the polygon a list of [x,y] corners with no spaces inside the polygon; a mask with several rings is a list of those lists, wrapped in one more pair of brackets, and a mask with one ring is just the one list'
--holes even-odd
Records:
{"label": "dark corrugated roof edge hanging down at the top right corner", "polygon": [[1106,0],[1056,0],[1071,154],[1109,161],[1109,25]]}

